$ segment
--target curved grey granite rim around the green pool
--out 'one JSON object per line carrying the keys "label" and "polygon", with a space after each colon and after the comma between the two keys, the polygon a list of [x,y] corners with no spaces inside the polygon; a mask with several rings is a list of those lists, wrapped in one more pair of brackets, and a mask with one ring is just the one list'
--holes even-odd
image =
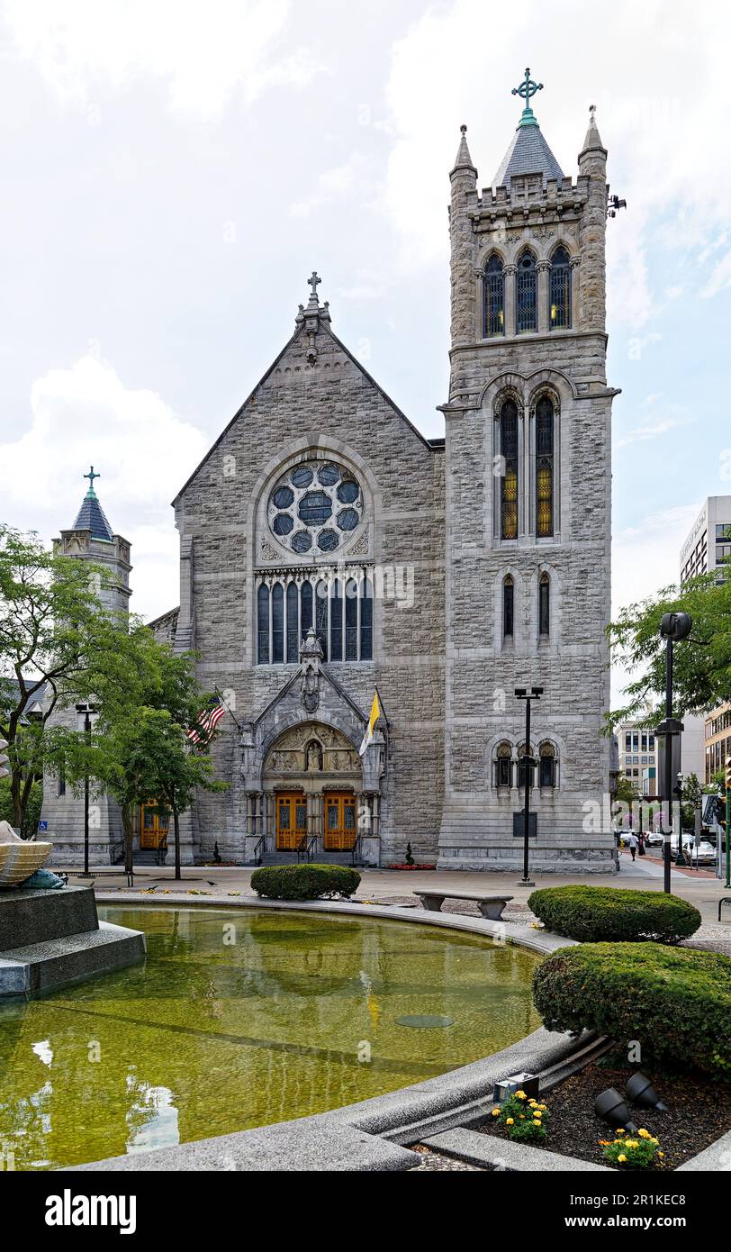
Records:
{"label": "curved grey granite rim around the green pool", "polygon": [[[448,896],[447,896],[448,898]],[[534,930],[513,921],[488,921],[463,913],[432,913],[427,909],[373,905],[345,900],[265,900],[257,895],[189,895],[187,891],[98,891],[99,905],[125,908],[272,909],[275,911],[320,913],[441,926],[499,939],[541,955],[573,947],[575,940]],[[417,1153],[403,1147],[426,1134],[434,1134],[484,1114],[492,1107],[492,1087],[511,1073],[570,1064],[586,1047],[577,1040],[539,1027],[508,1048],[492,1053],[446,1074],[427,1078],[384,1096],[345,1104],[325,1113],[275,1122],[250,1131],[208,1139],[195,1139],[170,1148],[109,1157],[68,1167],[63,1172],[119,1171],[398,1171],[419,1163]]]}

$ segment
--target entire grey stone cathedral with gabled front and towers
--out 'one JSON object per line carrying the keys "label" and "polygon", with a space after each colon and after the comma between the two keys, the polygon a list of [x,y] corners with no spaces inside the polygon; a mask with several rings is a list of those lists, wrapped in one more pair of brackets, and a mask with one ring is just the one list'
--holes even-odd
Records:
{"label": "entire grey stone cathedral with gabled front and towers", "polygon": [[[313,274],[292,338],[174,501],[180,605],[151,625],[198,650],[200,681],[230,709],[213,740],[230,786],[187,815],[187,863],[218,844],[242,864],[299,850],[386,866],[411,843],[423,864],[519,870],[529,769],[532,868],[612,868],[596,819],[610,769],[607,151],[592,109],[565,174],[538,89],[527,73],[513,93],[524,108],[482,190],[462,126],[444,437],[424,438],[338,339]],[[93,482],[56,542],[116,561],[126,593],[129,543]],[[514,690],[532,685],[526,744]],[[79,811],[46,785],[66,851]],[[139,826],[143,850],[164,840],[154,809]],[[120,838],[109,803],[95,859]]]}

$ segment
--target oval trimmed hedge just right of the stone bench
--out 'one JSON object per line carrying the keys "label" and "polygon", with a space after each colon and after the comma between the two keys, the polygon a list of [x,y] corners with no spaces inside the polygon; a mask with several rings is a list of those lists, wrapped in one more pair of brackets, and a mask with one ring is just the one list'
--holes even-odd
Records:
{"label": "oval trimmed hedge just right of the stone bench", "polygon": [[698,910],[677,895],[617,886],[548,886],[528,896],[528,908],[547,930],[590,943],[677,943],[695,934],[701,924]]}

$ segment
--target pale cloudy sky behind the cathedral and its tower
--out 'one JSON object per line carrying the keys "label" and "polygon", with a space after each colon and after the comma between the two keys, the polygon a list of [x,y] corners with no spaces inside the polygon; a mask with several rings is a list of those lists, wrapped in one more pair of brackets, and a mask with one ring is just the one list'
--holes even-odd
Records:
{"label": "pale cloudy sky behind the cathedral and its tower", "polygon": [[169,501],[293,329],[335,333],[428,436],[447,398],[448,170],[519,110],[566,173],[590,104],[608,225],[615,601],[731,493],[722,0],[0,0],[0,516],[70,526],[90,461],[134,601],[178,602]]}

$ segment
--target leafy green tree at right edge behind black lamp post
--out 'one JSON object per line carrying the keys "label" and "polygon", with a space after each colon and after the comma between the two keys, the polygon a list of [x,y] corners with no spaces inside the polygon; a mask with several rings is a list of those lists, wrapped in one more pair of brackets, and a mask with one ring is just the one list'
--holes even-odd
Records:
{"label": "leafy green tree at right edge behind black lamp post", "polygon": [[[723,577],[716,570],[690,578],[682,587],[665,587],[657,596],[622,608],[607,627],[612,660],[637,675],[625,687],[625,707],[608,715],[612,726],[621,721],[652,725],[662,711],[663,613],[686,612],[693,620],[692,636],[673,652],[675,715],[702,714],[731,699],[731,558],[723,565]],[[648,704],[655,705],[655,712],[647,711]]]}

